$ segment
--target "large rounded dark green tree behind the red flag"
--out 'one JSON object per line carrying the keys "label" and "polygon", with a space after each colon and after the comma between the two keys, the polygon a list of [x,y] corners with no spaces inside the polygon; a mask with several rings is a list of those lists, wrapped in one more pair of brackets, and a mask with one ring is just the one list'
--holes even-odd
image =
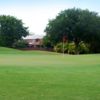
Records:
{"label": "large rounded dark green tree behind the red flag", "polygon": [[56,45],[64,36],[74,41],[76,47],[80,41],[90,44],[91,52],[100,52],[100,16],[96,12],[81,9],[61,11],[55,19],[49,21],[45,32],[49,40]]}

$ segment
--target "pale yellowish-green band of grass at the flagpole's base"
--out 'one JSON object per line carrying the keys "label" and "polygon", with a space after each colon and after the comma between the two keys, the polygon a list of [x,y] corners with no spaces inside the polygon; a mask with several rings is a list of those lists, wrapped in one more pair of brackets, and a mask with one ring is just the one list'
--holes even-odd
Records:
{"label": "pale yellowish-green band of grass at the flagpole's base", "polygon": [[[10,58],[9,58],[10,56]],[[72,56],[72,55],[25,55],[25,54],[21,54],[21,55],[6,55],[3,54],[0,57],[0,64],[1,65],[28,65],[28,66],[34,66],[36,65],[40,65],[42,66],[50,66],[50,65],[58,65],[58,67],[63,67],[62,65],[66,65],[66,67],[70,67],[70,66],[84,66],[84,65],[95,65],[95,64],[99,64],[99,56],[95,55],[81,55],[81,56]],[[80,66],[80,67],[81,67]],[[52,67],[52,66],[50,66]],[[55,66],[57,67],[57,66]]]}

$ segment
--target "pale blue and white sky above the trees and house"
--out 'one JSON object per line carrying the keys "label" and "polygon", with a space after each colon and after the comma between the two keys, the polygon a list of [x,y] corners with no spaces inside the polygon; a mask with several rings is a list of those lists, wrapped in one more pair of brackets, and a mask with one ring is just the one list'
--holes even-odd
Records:
{"label": "pale blue and white sky above the trees and house", "polygon": [[100,14],[100,0],[0,0],[0,15],[21,19],[31,34],[45,35],[44,29],[50,19],[74,7]]}

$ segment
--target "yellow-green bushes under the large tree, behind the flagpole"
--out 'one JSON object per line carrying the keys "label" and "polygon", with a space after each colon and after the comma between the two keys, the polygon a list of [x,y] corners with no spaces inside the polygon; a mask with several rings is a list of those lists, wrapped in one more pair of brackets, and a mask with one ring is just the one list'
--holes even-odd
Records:
{"label": "yellow-green bushes under the large tree, behind the flagpole", "polygon": [[[64,46],[64,47],[63,47]],[[63,52],[68,54],[86,54],[89,53],[89,45],[81,41],[77,46],[75,42],[70,43],[58,43],[54,47],[55,52]]]}

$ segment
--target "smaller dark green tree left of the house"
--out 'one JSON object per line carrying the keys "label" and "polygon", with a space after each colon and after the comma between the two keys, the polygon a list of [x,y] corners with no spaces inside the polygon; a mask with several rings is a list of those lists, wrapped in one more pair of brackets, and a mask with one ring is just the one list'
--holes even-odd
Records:
{"label": "smaller dark green tree left of the house", "polygon": [[13,16],[0,16],[0,46],[12,47],[22,37],[28,35],[28,28]]}

